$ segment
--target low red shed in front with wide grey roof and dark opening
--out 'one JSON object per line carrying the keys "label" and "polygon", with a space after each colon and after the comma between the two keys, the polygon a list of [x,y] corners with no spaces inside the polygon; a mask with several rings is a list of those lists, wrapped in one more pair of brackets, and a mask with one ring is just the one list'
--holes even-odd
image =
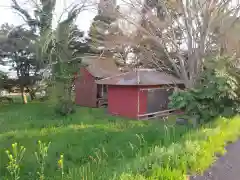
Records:
{"label": "low red shed in front with wide grey roof and dark opening", "polygon": [[170,111],[168,97],[182,85],[176,77],[154,70],[137,70],[96,81],[108,86],[108,112],[143,119]]}

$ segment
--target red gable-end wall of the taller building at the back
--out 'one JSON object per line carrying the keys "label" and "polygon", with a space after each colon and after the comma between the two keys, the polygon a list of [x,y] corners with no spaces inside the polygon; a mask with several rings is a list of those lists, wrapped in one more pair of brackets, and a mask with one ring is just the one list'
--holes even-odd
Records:
{"label": "red gable-end wall of the taller building at the back", "polygon": [[97,107],[97,84],[86,68],[80,69],[80,77],[75,81],[75,102],[85,107]]}

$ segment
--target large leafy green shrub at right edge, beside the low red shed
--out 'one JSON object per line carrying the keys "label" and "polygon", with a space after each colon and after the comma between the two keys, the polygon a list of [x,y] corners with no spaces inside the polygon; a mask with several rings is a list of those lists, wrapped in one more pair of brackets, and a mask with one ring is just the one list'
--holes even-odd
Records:
{"label": "large leafy green shrub at right edge, beside the low red shed", "polygon": [[198,121],[217,116],[229,117],[239,112],[239,82],[232,59],[219,57],[208,61],[195,88],[179,90],[170,97],[170,108],[182,109]]}

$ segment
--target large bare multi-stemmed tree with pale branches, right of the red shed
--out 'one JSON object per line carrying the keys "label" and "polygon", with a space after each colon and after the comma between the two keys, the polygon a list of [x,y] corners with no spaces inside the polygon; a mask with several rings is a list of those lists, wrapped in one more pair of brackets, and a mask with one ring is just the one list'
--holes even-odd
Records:
{"label": "large bare multi-stemmed tree with pale branches, right of the red shed", "polygon": [[[191,88],[203,70],[205,57],[209,53],[216,53],[212,46],[214,30],[229,15],[237,18],[239,4],[231,7],[232,1],[151,1],[153,4],[145,3],[143,6],[141,0],[133,0],[126,3],[135,9],[138,16],[130,17],[127,13],[121,16],[134,25],[142,37],[130,43],[139,45],[139,41],[145,42],[141,48],[150,57],[161,57],[159,53],[163,52],[166,58],[154,58],[152,63],[157,63],[159,69],[170,69],[183,80],[187,88]],[[146,9],[144,21],[147,23],[144,26],[141,18],[143,10],[139,7]],[[221,34],[225,34],[230,27],[226,27]],[[151,48],[152,43],[154,49]]]}

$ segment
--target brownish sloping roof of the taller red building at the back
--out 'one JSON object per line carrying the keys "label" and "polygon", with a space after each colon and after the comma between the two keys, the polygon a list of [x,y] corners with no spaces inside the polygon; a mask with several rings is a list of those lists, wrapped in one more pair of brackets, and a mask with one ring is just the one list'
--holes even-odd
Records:
{"label": "brownish sloping roof of the taller red building at the back", "polygon": [[106,78],[121,73],[114,60],[111,58],[93,56],[83,59],[83,63],[87,65],[87,70],[94,77]]}

